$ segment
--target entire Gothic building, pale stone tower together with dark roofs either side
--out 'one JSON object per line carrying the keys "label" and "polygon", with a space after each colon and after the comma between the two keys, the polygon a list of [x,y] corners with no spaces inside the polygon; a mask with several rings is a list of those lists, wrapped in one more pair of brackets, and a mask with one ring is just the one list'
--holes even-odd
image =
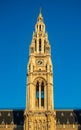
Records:
{"label": "entire Gothic building, pale stone tower together with dark roofs either side", "polygon": [[81,110],[55,110],[51,47],[40,12],[29,48],[25,110],[0,110],[0,130],[81,130]]}

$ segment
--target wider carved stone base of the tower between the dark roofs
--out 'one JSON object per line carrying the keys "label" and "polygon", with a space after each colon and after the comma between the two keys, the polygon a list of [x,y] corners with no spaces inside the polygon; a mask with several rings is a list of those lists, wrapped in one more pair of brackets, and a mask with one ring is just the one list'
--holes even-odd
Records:
{"label": "wider carved stone base of the tower between the dark roofs", "polygon": [[25,111],[24,130],[56,130],[55,111]]}

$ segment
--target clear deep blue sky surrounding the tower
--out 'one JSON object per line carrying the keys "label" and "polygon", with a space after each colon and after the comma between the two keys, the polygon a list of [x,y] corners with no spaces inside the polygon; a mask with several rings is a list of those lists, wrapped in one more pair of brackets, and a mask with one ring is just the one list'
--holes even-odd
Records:
{"label": "clear deep blue sky surrounding the tower", "polygon": [[51,44],[55,108],[81,108],[81,0],[0,0],[0,108],[25,108],[40,6]]}

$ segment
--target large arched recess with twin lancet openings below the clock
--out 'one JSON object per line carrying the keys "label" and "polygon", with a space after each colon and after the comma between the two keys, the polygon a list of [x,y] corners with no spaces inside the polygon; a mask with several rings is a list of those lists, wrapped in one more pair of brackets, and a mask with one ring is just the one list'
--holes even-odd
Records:
{"label": "large arched recess with twin lancet openings below the clock", "polygon": [[36,109],[44,108],[45,107],[45,91],[46,91],[46,80],[43,77],[38,77],[34,80],[35,85],[35,106]]}

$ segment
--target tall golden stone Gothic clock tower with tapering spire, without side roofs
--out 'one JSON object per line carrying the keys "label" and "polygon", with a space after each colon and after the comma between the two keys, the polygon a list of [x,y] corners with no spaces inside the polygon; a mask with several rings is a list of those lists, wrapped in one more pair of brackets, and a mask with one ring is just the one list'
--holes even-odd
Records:
{"label": "tall golden stone Gothic clock tower with tapering spire, without side roofs", "polygon": [[55,130],[51,47],[40,11],[27,66],[24,130]]}

